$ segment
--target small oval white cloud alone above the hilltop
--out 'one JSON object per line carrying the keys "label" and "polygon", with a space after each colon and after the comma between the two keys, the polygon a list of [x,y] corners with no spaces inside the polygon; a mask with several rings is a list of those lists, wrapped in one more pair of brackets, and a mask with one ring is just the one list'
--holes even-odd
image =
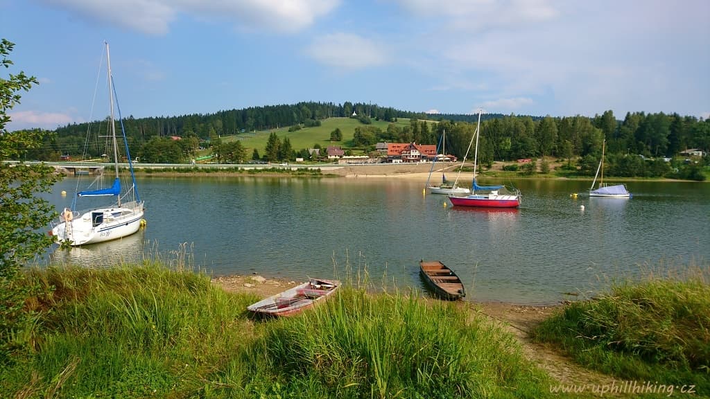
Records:
{"label": "small oval white cloud alone above the hilltop", "polygon": [[342,70],[360,70],[388,61],[380,45],[349,33],[332,33],[315,38],[306,52],[317,62]]}

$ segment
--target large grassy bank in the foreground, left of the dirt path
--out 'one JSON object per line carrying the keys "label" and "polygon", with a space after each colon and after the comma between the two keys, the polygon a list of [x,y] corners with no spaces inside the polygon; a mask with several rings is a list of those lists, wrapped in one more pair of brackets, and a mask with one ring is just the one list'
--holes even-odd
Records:
{"label": "large grassy bank in the foreground, left of the dirt path", "polygon": [[33,324],[0,373],[17,398],[540,398],[547,377],[465,307],[345,288],[257,321],[207,275],[155,263],[31,270]]}

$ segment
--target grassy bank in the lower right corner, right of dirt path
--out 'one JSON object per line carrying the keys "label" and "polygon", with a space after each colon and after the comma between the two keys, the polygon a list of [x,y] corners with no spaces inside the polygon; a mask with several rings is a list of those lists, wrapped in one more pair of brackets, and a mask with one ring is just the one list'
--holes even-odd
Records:
{"label": "grassy bank in the lower right corner, right of dirt path", "polygon": [[710,269],[682,274],[617,284],[574,302],[542,322],[535,337],[626,381],[673,385],[676,393],[692,385],[710,395]]}

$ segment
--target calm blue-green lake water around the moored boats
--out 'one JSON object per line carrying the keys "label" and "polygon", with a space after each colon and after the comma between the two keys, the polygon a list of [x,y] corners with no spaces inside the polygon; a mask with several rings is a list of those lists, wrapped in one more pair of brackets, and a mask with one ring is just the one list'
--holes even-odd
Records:
{"label": "calm blue-green lake water around the moored boats", "polygon": [[[485,210],[444,207],[445,196],[422,195],[424,181],[146,177],[138,180],[145,231],[57,249],[47,262],[103,265],[155,253],[177,262],[187,252],[213,275],[303,280],[366,268],[378,282],[422,288],[424,258],[457,270],[469,299],[547,303],[609,278],[710,261],[710,184],[629,182],[630,200],[572,200],[590,182],[514,183],[520,209]],[[67,177],[55,187],[58,209],[75,185]]]}

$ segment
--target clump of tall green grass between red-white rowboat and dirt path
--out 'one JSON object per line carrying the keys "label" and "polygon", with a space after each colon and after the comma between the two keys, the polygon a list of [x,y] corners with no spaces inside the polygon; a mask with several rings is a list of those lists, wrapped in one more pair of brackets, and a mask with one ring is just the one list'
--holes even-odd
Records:
{"label": "clump of tall green grass between red-white rowboat and dirt path", "polygon": [[[513,337],[450,303],[344,288],[302,317],[265,327],[246,350],[249,375],[271,376],[270,385],[251,386],[258,395],[539,398],[547,387]],[[219,373],[233,381],[222,397],[248,393],[239,369],[235,361]]]}

